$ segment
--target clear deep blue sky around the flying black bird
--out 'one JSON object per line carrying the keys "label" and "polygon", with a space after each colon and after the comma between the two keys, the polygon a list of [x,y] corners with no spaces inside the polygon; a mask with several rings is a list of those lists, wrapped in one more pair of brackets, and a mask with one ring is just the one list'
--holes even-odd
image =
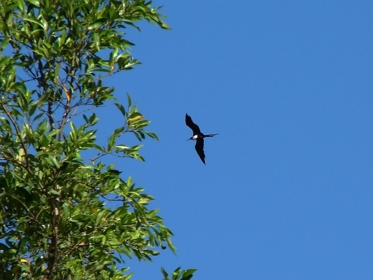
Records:
{"label": "clear deep blue sky around the flying black bird", "polygon": [[[116,168],[155,196],[178,249],[128,262],[133,279],[182,266],[200,280],[372,280],[373,1],[154,4],[172,30],[128,29],[143,64],[106,81],[160,138]],[[186,113],[219,133],[206,166]],[[121,121],[100,116],[107,131]]]}

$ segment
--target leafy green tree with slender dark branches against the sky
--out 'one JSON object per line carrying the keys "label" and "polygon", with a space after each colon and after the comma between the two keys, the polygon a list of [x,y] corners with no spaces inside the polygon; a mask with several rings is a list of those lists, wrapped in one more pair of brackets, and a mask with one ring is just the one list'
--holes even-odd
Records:
{"label": "leafy green tree with slender dark branches against the sky", "polygon": [[[139,63],[124,30],[144,19],[169,28],[145,0],[0,2],[0,279],[129,279],[124,258],[174,251],[153,197],[103,161],[144,160],[124,136],[157,139],[103,84]],[[123,125],[99,146],[95,109],[110,102]]]}

